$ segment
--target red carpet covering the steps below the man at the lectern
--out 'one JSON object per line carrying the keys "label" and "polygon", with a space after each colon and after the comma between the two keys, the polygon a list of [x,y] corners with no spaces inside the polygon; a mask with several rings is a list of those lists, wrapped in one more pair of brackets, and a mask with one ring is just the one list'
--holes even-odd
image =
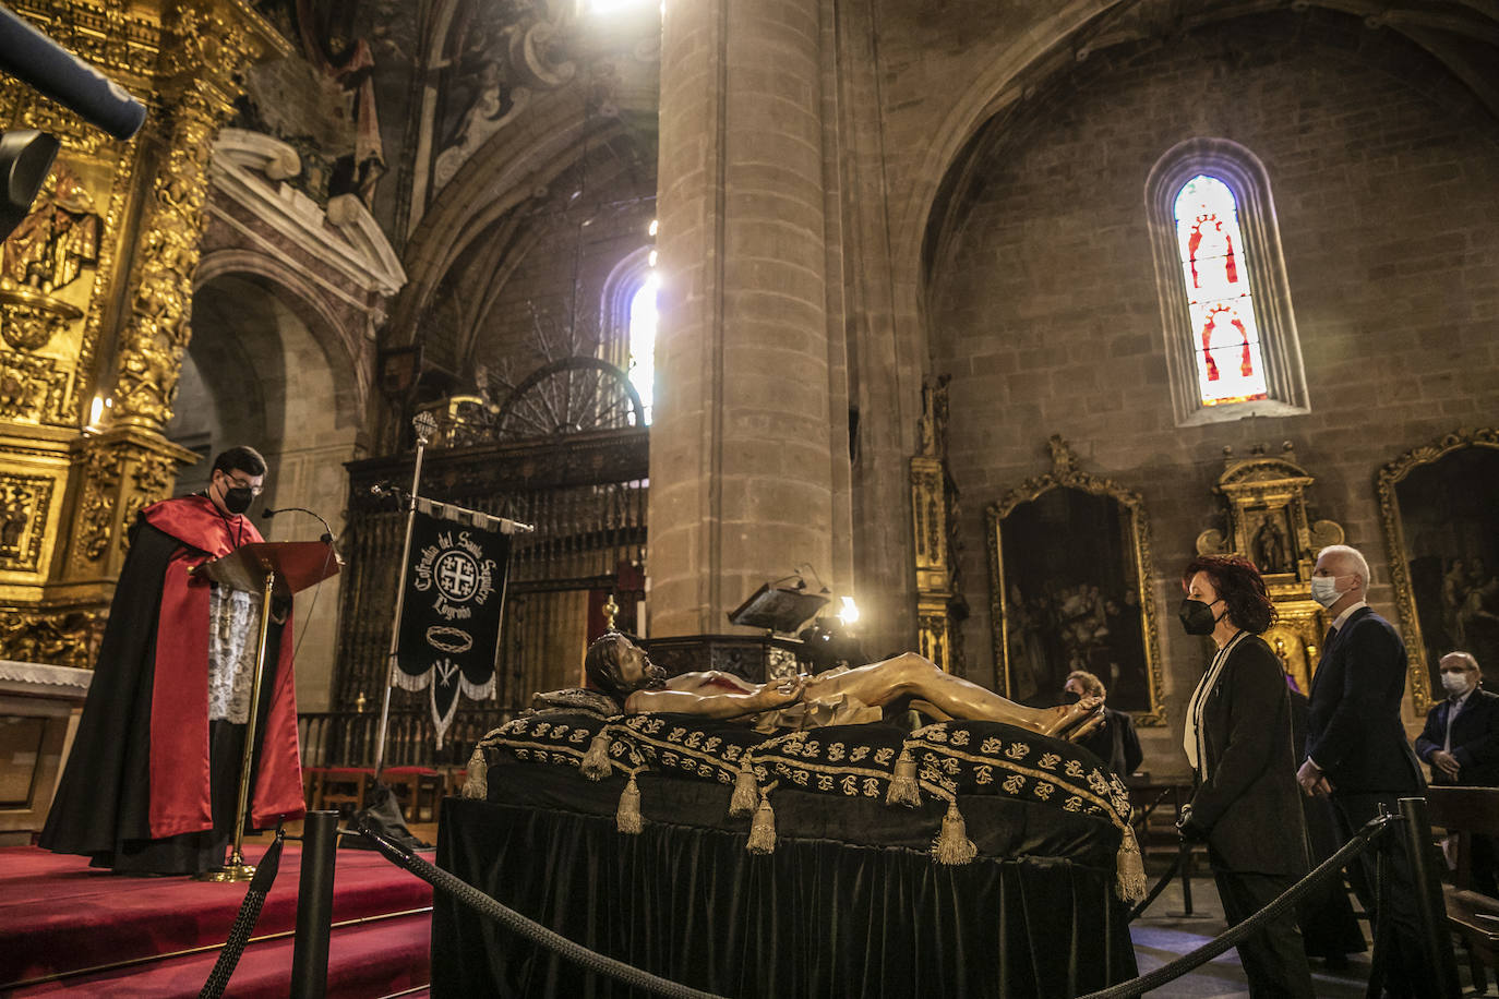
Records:
{"label": "red carpet covering the steps below the man at the lectern", "polygon": [[[246,849],[246,860],[255,863],[261,852]],[[286,843],[255,926],[256,938],[273,939],[246,948],[228,995],[286,995],[300,860],[300,845]],[[90,869],[82,857],[0,848],[0,993],[196,996],[217,950],[183,951],[222,945],[246,888],[186,878],[121,878]],[[378,854],[339,851],[328,995],[382,996],[424,984],[430,905],[426,882]],[[367,921],[337,926],[354,920]],[[280,933],[285,936],[276,936]],[[124,962],[139,963],[118,968]],[[99,971],[69,974],[84,969]]]}

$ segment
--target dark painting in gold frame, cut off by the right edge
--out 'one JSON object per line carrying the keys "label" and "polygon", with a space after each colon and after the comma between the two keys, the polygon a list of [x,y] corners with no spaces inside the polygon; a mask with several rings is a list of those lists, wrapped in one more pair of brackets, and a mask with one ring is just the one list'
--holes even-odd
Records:
{"label": "dark painting in gold frame, cut off by the right edge", "polygon": [[1390,586],[1418,714],[1438,662],[1471,652],[1499,675],[1499,428],[1457,430],[1379,470]]}

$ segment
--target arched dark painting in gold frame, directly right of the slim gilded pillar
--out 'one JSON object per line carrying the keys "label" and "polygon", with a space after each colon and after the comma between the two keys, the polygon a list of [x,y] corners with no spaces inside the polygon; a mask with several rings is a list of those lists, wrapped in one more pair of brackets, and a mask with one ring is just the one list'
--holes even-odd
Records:
{"label": "arched dark painting in gold frame, directly right of the slim gilded pillar", "polygon": [[1004,695],[1057,704],[1072,669],[1094,672],[1111,707],[1165,725],[1145,505],[1076,469],[1051,439],[1052,470],[986,511],[994,662]]}

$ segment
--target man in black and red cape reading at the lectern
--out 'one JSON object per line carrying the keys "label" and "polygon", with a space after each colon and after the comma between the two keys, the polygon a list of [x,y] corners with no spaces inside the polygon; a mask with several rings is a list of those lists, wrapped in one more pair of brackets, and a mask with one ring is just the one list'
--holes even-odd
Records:
{"label": "man in black and red cape reading at the lectern", "polygon": [[[244,511],[264,482],[265,458],[229,448],[214,458],[207,490],[139,512],[43,848],[132,875],[223,866],[261,601],[190,571],[262,541]],[[253,827],[303,813],[291,628],[282,622],[265,640]]]}

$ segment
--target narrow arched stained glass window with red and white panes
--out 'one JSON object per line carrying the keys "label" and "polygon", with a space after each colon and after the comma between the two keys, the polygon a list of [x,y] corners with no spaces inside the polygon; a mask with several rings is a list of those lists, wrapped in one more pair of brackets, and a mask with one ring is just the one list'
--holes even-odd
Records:
{"label": "narrow arched stained glass window with red and white panes", "polygon": [[1198,174],[1177,192],[1175,220],[1202,404],[1267,398],[1234,192],[1222,180]]}

